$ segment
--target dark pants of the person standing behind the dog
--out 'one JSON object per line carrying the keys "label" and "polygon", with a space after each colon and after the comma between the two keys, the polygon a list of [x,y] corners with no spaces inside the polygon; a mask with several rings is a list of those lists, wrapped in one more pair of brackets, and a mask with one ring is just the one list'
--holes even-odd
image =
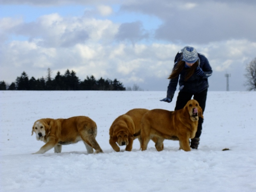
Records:
{"label": "dark pants of the person standing behind the dog", "polygon": [[[202,91],[201,93],[195,93],[195,94],[180,91],[179,94],[178,94],[178,97],[177,97],[175,110],[182,109],[186,105],[186,103],[192,98],[193,95],[194,95],[193,99],[198,101],[200,107],[202,108],[202,110],[204,112],[206,97],[207,97],[207,89]],[[202,132],[202,123],[203,123],[203,121],[204,121],[204,119],[199,117],[198,130],[195,134],[195,137],[200,137],[201,132]]]}

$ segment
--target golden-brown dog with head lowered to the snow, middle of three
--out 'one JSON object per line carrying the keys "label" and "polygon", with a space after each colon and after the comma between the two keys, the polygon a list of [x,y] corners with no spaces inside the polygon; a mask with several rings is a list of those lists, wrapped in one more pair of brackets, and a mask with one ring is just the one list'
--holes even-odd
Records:
{"label": "golden-brown dog with head lowered to the snow, middle of three", "polygon": [[[117,117],[109,129],[109,144],[115,151],[120,151],[119,146],[126,145],[125,151],[131,151],[133,140],[138,138],[141,144],[140,134],[134,134],[141,129],[140,120],[148,112],[147,109],[132,109],[127,113]],[[156,138],[152,138],[156,142]],[[116,145],[118,143],[118,145]]]}

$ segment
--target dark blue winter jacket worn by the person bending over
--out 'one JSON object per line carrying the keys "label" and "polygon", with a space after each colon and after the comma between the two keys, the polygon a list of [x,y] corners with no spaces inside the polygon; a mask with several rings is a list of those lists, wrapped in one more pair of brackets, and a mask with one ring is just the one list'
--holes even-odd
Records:
{"label": "dark blue winter jacket worn by the person bending over", "polygon": [[[175,64],[173,68],[177,66],[177,62],[180,61],[181,59],[182,54],[180,55],[178,54],[176,56],[179,56],[179,57],[178,58],[175,57]],[[192,94],[200,93],[209,87],[208,77],[212,75],[212,67],[209,65],[209,61],[204,55],[198,53],[198,57],[199,57],[199,66],[204,71],[204,75],[198,76],[196,73],[194,73],[187,81],[185,81],[186,71],[188,68],[184,67],[183,70],[180,72],[179,76],[177,76],[175,79],[170,80],[168,85],[168,90],[167,90],[167,97],[171,99],[173,98],[178,81],[180,85],[180,88],[179,88],[180,91],[185,91]]]}

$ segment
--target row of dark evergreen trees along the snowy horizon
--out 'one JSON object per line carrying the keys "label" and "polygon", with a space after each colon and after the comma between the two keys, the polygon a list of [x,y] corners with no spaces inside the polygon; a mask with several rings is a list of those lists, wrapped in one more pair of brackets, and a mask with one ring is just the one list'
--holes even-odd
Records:
{"label": "row of dark evergreen trees along the snowy horizon", "polygon": [[67,70],[62,76],[57,73],[54,79],[51,78],[51,70],[48,69],[46,78],[35,79],[23,72],[20,77],[17,77],[15,82],[9,86],[5,81],[0,81],[0,90],[125,90],[122,83],[114,79],[96,80],[94,76],[90,76],[84,81],[80,81],[73,70]]}

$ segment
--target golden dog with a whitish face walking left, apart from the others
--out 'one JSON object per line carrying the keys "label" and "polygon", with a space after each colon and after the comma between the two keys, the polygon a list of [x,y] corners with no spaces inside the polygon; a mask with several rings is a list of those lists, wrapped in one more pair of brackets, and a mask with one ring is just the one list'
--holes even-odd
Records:
{"label": "golden dog with a whitish face walking left, apart from the others", "polygon": [[96,123],[87,116],[74,116],[69,119],[39,119],[32,128],[36,139],[46,143],[35,154],[43,154],[54,148],[55,153],[61,152],[62,145],[77,143],[81,140],[87,148],[88,154],[103,152],[95,137]]}

